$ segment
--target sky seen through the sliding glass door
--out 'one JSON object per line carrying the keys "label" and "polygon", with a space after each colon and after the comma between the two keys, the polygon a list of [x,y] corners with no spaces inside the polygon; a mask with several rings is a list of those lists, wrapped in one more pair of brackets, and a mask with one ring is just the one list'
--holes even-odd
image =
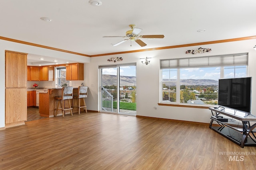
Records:
{"label": "sky seen through the sliding glass door", "polygon": [[[116,75],[116,68],[103,68],[102,74]],[[120,76],[136,76],[136,66],[120,66]]]}

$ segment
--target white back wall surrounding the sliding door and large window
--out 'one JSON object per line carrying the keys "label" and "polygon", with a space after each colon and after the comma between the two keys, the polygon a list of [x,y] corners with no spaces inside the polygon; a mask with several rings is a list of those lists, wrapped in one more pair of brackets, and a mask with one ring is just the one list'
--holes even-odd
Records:
{"label": "white back wall surrounding the sliding door and large window", "polygon": [[[256,96],[256,51],[253,49],[255,44],[256,40],[254,39],[230,43],[92,57],[91,62],[86,64],[85,71],[85,82],[86,85],[90,87],[90,93],[86,101],[87,108],[89,110],[100,110],[98,106],[100,100],[98,65],[114,64],[107,61],[107,59],[110,59],[111,57],[122,57],[123,61],[118,61],[116,64],[137,63],[137,115],[209,123],[211,112],[208,109],[158,106],[158,103],[160,102],[160,59],[249,53],[248,72],[249,76],[252,76],[252,113],[256,115],[256,99],[254,97]],[[210,53],[196,55],[185,53],[188,49],[198,49],[199,47],[211,48],[212,51]],[[145,65],[140,62],[139,59],[144,57],[152,57],[150,64]],[[154,109],[154,106],[157,106],[157,109]]]}

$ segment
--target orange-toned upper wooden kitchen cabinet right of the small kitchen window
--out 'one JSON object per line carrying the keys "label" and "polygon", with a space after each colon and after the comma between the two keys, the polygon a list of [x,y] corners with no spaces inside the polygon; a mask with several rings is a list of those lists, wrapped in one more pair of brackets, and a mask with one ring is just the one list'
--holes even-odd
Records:
{"label": "orange-toned upper wooden kitchen cabinet right of the small kitchen window", "polygon": [[84,64],[66,64],[66,80],[84,80]]}

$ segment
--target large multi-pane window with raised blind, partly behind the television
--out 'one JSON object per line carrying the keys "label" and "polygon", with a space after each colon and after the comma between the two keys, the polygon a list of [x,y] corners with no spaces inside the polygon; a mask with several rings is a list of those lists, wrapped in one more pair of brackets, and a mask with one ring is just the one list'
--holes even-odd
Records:
{"label": "large multi-pane window with raised blind, partly behind the television", "polygon": [[248,54],[161,60],[161,103],[216,105],[218,79],[247,76]]}

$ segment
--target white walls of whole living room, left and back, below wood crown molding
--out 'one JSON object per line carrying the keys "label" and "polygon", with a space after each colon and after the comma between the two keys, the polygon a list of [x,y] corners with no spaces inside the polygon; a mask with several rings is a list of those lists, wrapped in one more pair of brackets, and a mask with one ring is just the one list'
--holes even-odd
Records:
{"label": "white walls of whole living room, left and back, below wood crown molding", "polygon": [[[158,106],[158,103],[160,102],[160,59],[249,53],[249,76],[252,76],[252,113],[256,115],[256,97],[254,97],[256,96],[256,51],[254,51],[253,49],[254,45],[256,45],[256,39],[247,41],[236,41],[230,43],[202,45],[202,48],[211,48],[212,51],[210,53],[202,53],[196,55],[185,54],[185,51],[187,51],[188,49],[198,49],[200,46],[90,58],[0,40],[0,72],[2,73],[2,76],[0,77],[0,94],[4,94],[5,92],[4,50],[32,53],[57,58],[59,57],[64,59],[75,59],[80,63],[86,63],[84,65],[84,85],[89,86],[88,98],[86,98],[87,109],[99,111],[100,108],[98,106],[98,102],[100,100],[100,94],[98,81],[98,65],[113,64],[112,62],[107,61],[107,59],[109,59],[110,57],[122,57],[123,61],[118,61],[118,64],[137,63],[137,115],[209,123],[210,110],[208,109]],[[145,64],[141,64],[139,60],[140,58],[144,57],[152,57],[150,64],[148,64],[147,66]],[[151,91],[149,92],[146,87],[150,87]],[[4,102],[5,98],[0,98],[0,108],[3,108],[0,111],[0,128],[4,127],[5,123]],[[157,110],[154,109],[154,106],[158,107]]]}

